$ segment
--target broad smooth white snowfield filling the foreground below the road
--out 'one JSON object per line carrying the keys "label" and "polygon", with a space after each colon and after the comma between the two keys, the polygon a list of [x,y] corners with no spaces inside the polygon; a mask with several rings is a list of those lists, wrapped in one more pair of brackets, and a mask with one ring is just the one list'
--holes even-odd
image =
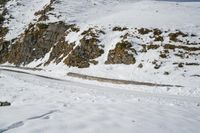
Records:
{"label": "broad smooth white snowfield filling the foreground below the road", "polygon": [[[196,133],[199,97],[150,94],[0,71],[0,132]],[[12,84],[8,84],[12,81]]]}

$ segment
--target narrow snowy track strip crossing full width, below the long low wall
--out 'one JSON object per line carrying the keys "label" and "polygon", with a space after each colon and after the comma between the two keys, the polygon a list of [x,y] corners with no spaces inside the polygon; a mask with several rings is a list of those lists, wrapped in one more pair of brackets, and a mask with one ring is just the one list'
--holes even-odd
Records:
{"label": "narrow snowy track strip crossing full width, below the long low wall", "polygon": [[[33,74],[33,73],[29,73],[29,72],[24,72],[24,71],[20,71],[20,70],[11,70],[11,69],[6,69],[6,68],[0,68],[0,72],[1,71],[5,71],[5,72],[11,72],[11,73],[18,73],[18,74],[25,74],[25,75],[29,75],[29,76],[36,76],[36,77],[40,77],[40,78],[44,78],[44,79],[49,79],[49,80],[55,80],[55,81],[59,81],[59,82],[63,82],[63,83],[67,83],[70,84],[70,86],[77,86],[77,87],[87,87],[88,89],[94,89],[94,88],[101,88],[101,90],[103,89],[101,86],[98,85],[92,85],[92,84],[88,84],[88,83],[81,83],[81,82],[76,82],[76,81],[70,81],[70,80],[64,80],[64,79],[58,79],[58,78],[53,78],[53,77],[48,77],[48,76],[43,76],[43,75],[38,75],[38,74]],[[107,91],[107,93],[109,93],[110,89],[115,89],[115,92],[121,93],[121,89],[120,88],[112,88],[112,87],[106,87],[105,91]],[[119,89],[119,90],[118,90]],[[179,95],[172,95],[172,94],[152,94],[152,93],[148,93],[148,92],[141,92],[141,91],[134,91],[134,90],[130,90],[130,91],[124,91],[124,94],[129,94],[131,93],[132,96],[134,97],[145,97],[145,98],[156,98],[156,99],[170,99],[170,100],[175,100],[175,101],[180,101],[180,102],[191,102],[194,104],[199,104],[200,102],[200,97],[193,97],[193,96],[179,96]]]}

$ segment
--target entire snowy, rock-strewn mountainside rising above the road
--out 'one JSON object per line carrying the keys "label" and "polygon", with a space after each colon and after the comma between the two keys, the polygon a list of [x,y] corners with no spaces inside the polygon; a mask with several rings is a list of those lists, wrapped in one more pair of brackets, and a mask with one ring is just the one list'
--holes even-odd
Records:
{"label": "entire snowy, rock-strewn mountainside rising above the road", "polygon": [[[32,8],[29,8],[29,4]],[[184,86],[199,95],[199,2],[14,1],[4,65]],[[26,18],[26,19],[24,19]],[[192,84],[191,84],[192,83]]]}

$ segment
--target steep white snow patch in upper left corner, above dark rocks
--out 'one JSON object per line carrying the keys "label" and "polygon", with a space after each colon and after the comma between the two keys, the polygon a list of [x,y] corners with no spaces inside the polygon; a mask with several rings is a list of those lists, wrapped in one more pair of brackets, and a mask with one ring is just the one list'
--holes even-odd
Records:
{"label": "steep white snow patch in upper left corner, above dark rocks", "polygon": [[49,2],[49,0],[11,0],[8,2],[6,18],[9,20],[5,26],[9,28],[9,32],[5,39],[11,40],[22,34],[30,23],[37,20],[38,17],[34,15],[35,12],[43,9]]}

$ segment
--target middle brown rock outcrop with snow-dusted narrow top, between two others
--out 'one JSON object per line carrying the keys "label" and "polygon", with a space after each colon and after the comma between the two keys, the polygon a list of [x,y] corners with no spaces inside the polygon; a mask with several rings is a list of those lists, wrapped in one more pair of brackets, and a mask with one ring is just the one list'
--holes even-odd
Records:
{"label": "middle brown rock outcrop with snow-dusted narrow top, between two others", "polygon": [[71,54],[65,59],[64,63],[68,66],[86,68],[90,63],[97,64],[94,59],[101,56],[104,51],[98,37],[103,34],[100,30],[88,29],[82,33],[83,38],[80,40],[80,45],[77,46]]}

